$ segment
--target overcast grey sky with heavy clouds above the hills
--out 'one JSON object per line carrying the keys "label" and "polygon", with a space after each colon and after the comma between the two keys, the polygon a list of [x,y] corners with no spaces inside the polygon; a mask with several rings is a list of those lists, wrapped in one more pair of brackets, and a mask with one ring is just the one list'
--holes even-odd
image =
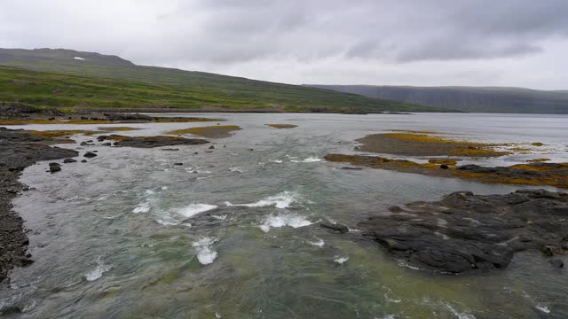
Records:
{"label": "overcast grey sky with heavy clouds above the hills", "polygon": [[2,0],[0,47],[296,84],[568,89],[568,0]]}

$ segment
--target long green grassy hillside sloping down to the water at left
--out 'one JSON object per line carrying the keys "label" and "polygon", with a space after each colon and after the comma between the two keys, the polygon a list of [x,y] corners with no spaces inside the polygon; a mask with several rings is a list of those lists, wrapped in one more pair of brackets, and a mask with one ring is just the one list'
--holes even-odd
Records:
{"label": "long green grassy hillside sloping down to the water at left", "polygon": [[[82,57],[84,60],[76,60]],[[0,101],[121,108],[231,108],[282,111],[437,111],[327,89],[177,69],[136,66],[98,53],[0,49]],[[41,85],[31,85],[33,82]],[[28,84],[26,84],[28,83]]]}

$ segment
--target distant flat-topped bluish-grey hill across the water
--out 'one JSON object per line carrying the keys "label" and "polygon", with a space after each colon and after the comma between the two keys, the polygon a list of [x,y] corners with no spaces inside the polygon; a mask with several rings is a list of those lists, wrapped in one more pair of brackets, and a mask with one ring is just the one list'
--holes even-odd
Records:
{"label": "distant flat-topped bluish-grey hill across the water", "polygon": [[471,113],[568,113],[568,91],[500,87],[309,85]]}

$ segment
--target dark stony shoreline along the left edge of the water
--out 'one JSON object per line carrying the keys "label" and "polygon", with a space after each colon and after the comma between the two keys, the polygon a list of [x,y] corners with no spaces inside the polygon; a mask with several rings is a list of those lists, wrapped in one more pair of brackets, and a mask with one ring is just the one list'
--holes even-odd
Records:
{"label": "dark stony shoreline along the left edge of the water", "polygon": [[0,282],[14,266],[33,262],[23,220],[12,210],[12,198],[28,187],[18,182],[21,171],[40,160],[65,159],[78,152],[51,147],[55,141],[21,129],[0,128]]}

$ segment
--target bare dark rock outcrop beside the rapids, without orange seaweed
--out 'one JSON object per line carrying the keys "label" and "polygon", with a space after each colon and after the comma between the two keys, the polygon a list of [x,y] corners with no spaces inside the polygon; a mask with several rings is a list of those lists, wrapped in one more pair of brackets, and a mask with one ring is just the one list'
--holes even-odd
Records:
{"label": "bare dark rock outcrop beside the rapids, without orange seaweed", "polygon": [[[408,264],[449,273],[507,268],[514,253],[568,253],[568,194],[454,192],[360,222],[364,236]],[[558,262],[554,261],[559,267]]]}

